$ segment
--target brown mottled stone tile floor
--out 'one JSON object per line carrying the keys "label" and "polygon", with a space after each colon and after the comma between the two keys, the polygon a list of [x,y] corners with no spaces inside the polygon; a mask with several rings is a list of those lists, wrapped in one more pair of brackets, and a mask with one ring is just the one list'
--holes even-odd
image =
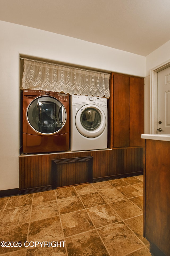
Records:
{"label": "brown mottled stone tile floor", "polygon": [[142,229],[143,175],[0,198],[4,256],[150,256]]}

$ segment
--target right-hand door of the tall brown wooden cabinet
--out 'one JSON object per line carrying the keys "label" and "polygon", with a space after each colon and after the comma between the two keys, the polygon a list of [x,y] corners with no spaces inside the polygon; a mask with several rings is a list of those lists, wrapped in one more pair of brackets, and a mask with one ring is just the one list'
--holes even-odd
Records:
{"label": "right-hand door of the tall brown wooden cabinet", "polygon": [[129,146],[144,146],[145,140],[141,139],[144,133],[144,79],[140,77],[130,77],[129,93]]}

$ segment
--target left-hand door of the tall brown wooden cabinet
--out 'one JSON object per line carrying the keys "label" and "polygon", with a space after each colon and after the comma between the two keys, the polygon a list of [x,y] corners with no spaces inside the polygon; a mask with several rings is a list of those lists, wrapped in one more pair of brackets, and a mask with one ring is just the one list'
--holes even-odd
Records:
{"label": "left-hand door of the tall brown wooden cabinet", "polygon": [[129,147],[129,76],[114,74],[113,147]]}

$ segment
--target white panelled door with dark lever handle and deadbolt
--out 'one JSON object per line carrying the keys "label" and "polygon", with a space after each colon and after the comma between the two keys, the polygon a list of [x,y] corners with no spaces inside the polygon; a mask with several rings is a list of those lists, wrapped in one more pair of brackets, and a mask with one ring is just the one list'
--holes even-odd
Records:
{"label": "white panelled door with dark lever handle and deadbolt", "polygon": [[158,133],[170,133],[170,67],[158,72]]}

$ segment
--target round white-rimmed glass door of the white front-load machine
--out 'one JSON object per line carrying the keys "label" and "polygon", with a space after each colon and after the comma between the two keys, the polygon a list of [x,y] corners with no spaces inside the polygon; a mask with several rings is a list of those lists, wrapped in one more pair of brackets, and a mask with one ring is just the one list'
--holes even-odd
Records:
{"label": "round white-rimmed glass door of the white front-load machine", "polygon": [[83,136],[94,138],[103,133],[106,126],[106,117],[100,107],[88,104],[78,110],[75,124]]}

